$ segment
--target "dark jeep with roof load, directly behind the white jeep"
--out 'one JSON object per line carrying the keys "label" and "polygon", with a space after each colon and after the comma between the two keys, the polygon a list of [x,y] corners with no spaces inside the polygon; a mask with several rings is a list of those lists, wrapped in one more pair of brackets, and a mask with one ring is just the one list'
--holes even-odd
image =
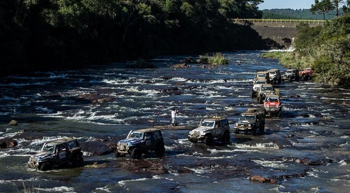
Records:
{"label": "dark jeep with roof load, directly behind the white jeep", "polygon": [[249,131],[251,135],[255,135],[257,129],[259,129],[260,133],[264,133],[265,115],[264,112],[258,111],[256,108],[248,108],[234,124],[235,134],[238,134],[240,131],[243,133]]}

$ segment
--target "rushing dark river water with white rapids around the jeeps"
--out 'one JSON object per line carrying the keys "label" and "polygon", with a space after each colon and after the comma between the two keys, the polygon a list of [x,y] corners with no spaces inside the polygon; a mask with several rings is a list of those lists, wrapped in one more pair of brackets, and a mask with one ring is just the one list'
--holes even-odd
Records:
{"label": "rushing dark river water with white rapids around the jeeps", "polygon": [[[143,161],[163,172],[133,170],[125,166],[137,164],[131,157],[89,156],[83,148],[86,165],[106,166],[46,172],[27,166],[29,156],[39,152],[44,142],[70,136],[77,137],[82,147],[115,142],[134,128],[169,125],[174,107],[180,110],[179,126],[196,126],[201,118],[212,116],[225,116],[234,123],[247,108],[261,107],[250,97],[254,72],[285,70],[277,60],[261,59],[259,54],[226,53],[230,64],[213,69],[194,64],[173,69],[169,66],[185,56],[172,56],[152,60],[156,69],[109,64],[1,79],[0,139],[14,138],[18,146],[0,149],[0,192],[21,192],[23,184],[41,193],[350,192],[346,105],[350,89],[312,81],[278,85],[283,115],[267,118],[262,135],[233,134],[230,124],[228,145],[206,146],[189,142],[190,130],[162,130],[164,157],[149,153]],[[107,101],[79,99],[89,94]],[[19,124],[9,126],[12,119]],[[272,177],[279,183],[250,181],[249,175]]]}

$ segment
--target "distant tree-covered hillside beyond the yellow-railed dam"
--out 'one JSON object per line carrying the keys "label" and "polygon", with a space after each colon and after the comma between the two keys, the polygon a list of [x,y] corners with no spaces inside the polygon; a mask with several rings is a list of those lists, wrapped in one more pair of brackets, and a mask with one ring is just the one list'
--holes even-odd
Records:
{"label": "distant tree-covered hillside beyond the yellow-railed dam", "polygon": [[[339,16],[342,10],[339,10]],[[335,11],[326,14],[326,20],[335,17]],[[304,20],[323,20],[323,14],[312,14],[309,9],[272,9],[262,10],[262,19],[304,19]]]}

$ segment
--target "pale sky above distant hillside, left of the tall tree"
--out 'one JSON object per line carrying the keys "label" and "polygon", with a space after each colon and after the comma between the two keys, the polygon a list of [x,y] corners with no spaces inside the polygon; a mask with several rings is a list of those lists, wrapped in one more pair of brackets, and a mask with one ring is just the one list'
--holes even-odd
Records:
{"label": "pale sky above distant hillside, left of the tall tree", "polygon": [[310,9],[314,0],[264,0],[264,3],[258,5],[259,10],[265,9]]}

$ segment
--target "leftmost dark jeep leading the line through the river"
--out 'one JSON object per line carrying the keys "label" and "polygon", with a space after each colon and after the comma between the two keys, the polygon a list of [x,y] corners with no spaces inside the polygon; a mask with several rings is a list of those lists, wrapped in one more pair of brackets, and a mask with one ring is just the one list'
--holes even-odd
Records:
{"label": "leftmost dark jeep leading the line through the river", "polygon": [[64,163],[82,166],[84,160],[76,138],[62,138],[44,143],[41,152],[30,156],[28,165],[46,171]]}

